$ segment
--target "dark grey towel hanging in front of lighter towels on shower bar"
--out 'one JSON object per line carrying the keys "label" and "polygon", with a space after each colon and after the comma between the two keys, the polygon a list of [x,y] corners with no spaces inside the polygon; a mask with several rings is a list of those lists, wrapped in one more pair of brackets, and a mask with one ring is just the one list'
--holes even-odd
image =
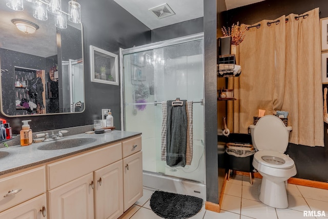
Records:
{"label": "dark grey towel hanging in front of lighter towels on shower bar", "polygon": [[170,167],[185,167],[187,150],[187,101],[182,101],[182,106],[172,106],[172,102],[167,102],[166,163]]}

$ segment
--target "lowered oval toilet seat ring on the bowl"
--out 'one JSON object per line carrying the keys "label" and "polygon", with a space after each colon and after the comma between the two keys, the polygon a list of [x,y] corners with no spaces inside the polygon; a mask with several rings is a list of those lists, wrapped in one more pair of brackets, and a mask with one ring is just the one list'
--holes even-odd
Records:
{"label": "lowered oval toilet seat ring on the bowl", "polygon": [[275,151],[258,151],[254,154],[254,160],[261,165],[277,169],[290,169],[295,165],[291,157]]}

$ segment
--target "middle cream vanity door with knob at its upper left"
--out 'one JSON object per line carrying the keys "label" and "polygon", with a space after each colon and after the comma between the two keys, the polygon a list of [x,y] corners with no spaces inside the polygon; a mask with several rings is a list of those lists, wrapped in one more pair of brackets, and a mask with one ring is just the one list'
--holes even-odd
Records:
{"label": "middle cream vanity door with knob at its upper left", "polygon": [[118,218],[123,214],[122,160],[94,172],[95,218]]}

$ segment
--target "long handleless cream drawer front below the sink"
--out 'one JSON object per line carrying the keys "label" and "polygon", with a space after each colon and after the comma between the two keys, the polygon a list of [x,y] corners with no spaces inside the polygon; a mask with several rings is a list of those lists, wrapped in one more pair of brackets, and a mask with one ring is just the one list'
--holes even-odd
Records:
{"label": "long handleless cream drawer front below the sink", "polygon": [[48,190],[121,160],[121,147],[116,143],[47,165]]}

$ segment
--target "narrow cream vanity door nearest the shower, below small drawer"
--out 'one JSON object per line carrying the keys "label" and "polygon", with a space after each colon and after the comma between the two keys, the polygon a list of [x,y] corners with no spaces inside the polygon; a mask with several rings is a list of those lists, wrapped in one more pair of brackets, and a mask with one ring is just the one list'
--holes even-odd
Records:
{"label": "narrow cream vanity door nearest the shower, below small drawer", "polygon": [[142,152],[123,159],[124,211],[142,197]]}

